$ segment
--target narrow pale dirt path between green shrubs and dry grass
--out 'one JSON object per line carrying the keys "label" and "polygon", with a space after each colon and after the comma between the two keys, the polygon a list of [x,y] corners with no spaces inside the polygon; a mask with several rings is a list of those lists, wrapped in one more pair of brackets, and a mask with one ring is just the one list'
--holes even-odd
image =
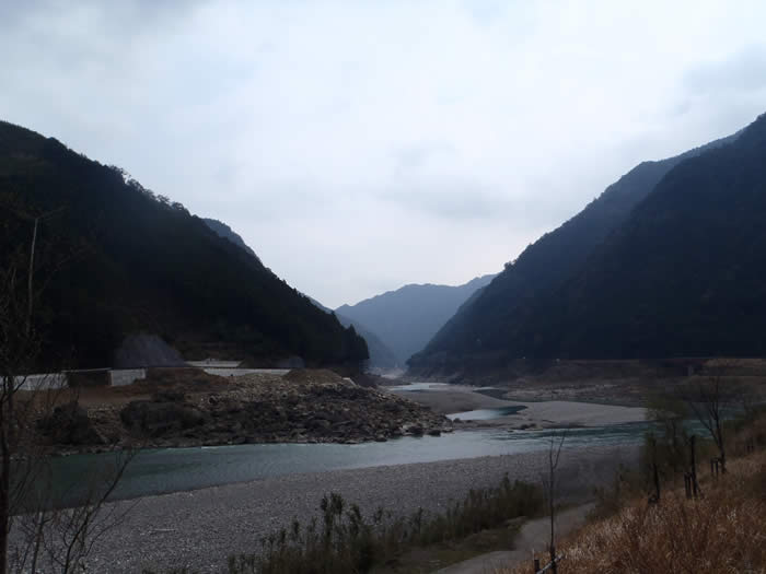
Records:
{"label": "narrow pale dirt path between green shrubs and dry grass", "polygon": [[[593,508],[593,504],[583,504],[570,508],[556,517],[557,538],[567,536],[569,532],[581,526],[588,513]],[[521,562],[530,562],[532,565],[532,551],[538,554],[545,548],[546,540],[550,536],[550,522],[547,517],[535,518],[525,523],[519,530],[519,535],[513,541],[514,550],[489,552],[457,564],[452,564],[445,569],[438,570],[438,574],[492,574],[500,569],[514,566]]]}

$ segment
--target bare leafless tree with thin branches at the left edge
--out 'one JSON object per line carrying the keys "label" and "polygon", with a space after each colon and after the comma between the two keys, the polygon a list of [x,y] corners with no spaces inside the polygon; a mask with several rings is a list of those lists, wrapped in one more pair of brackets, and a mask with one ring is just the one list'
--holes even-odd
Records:
{"label": "bare leafless tree with thin branches at the left edge", "polygon": [[[10,212],[5,204],[0,209]],[[38,279],[40,229],[57,213],[13,209],[8,221],[13,219],[18,225],[7,221],[0,230],[3,241],[16,242],[0,269],[0,574],[82,569],[93,543],[123,517],[116,506],[102,511],[134,456],[131,450],[118,456],[111,472],[80,493],[77,507],[62,508],[56,500],[50,453],[38,423],[54,413],[63,393],[70,399],[72,394],[62,388],[59,376],[33,373],[43,349],[38,303],[66,259],[46,261],[45,277]],[[28,243],[21,234],[25,229]]]}

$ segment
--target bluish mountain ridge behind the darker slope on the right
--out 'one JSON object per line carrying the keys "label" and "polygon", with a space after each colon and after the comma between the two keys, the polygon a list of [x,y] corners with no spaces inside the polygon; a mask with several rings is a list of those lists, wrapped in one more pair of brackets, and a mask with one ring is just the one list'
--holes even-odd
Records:
{"label": "bluish mountain ridge behind the darker slope on the right", "polygon": [[[643,162],[632,168],[580,213],[507,263],[495,281],[452,317],[422,353],[413,358],[410,367],[421,373],[450,372],[476,363],[497,366],[527,354],[561,354],[564,349],[553,342],[554,333],[560,333],[564,328],[557,325],[557,313],[565,305],[557,298],[559,291],[584,272],[607,238],[631,221],[637,206],[671,173],[695,157],[728,149],[741,134],[738,132],[675,157]],[[622,263],[640,271],[632,260]],[[594,291],[593,296],[603,301],[611,294]],[[554,302],[558,306],[555,307]],[[547,330],[537,323],[543,318]],[[576,332],[582,331],[577,329]],[[616,337],[617,331],[613,330],[612,336]],[[610,353],[606,349],[592,348],[589,355],[607,356]]]}

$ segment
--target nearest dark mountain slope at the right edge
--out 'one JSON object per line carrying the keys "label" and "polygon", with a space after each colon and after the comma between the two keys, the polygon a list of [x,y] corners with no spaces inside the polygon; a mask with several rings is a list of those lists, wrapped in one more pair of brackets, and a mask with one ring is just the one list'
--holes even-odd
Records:
{"label": "nearest dark mountain slope at the right edge", "polygon": [[535,313],[531,353],[766,353],[766,115],[678,164]]}

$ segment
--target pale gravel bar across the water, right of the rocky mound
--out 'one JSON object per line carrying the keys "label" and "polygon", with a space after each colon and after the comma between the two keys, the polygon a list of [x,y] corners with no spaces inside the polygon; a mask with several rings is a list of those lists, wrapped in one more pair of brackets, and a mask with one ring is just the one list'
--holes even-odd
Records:
{"label": "pale gravel bar across the water, right of the rocky mound", "polygon": [[[486,391],[477,390],[476,387],[462,385],[433,385],[429,390],[395,390],[395,393],[442,414],[477,409],[524,407],[518,413],[508,417],[473,421],[472,426],[603,426],[646,420],[646,409],[640,407],[568,400],[515,401],[499,398],[502,396],[500,389],[496,389],[495,396],[490,396]],[[541,397],[541,399],[545,398]],[[469,415],[463,419],[465,422],[469,420]]]}

